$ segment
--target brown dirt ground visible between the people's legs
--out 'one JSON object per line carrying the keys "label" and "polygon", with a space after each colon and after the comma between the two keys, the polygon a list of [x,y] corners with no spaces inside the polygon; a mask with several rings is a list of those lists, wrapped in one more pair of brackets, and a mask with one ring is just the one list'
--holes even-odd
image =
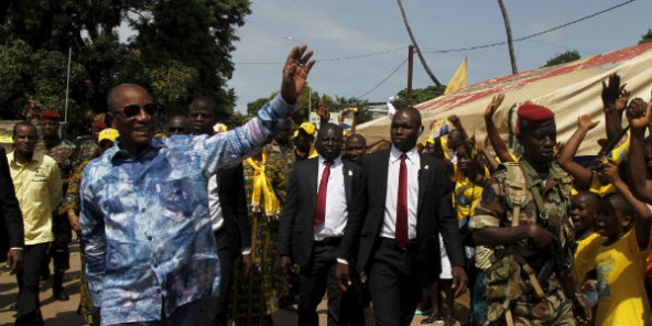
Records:
{"label": "brown dirt ground visible between the people's legs", "polygon": [[[77,305],[79,303],[79,246],[73,243],[70,246],[70,270],[66,274],[66,282],[64,284],[69,301],[62,302],[52,298],[52,281],[41,282],[41,312],[47,326],[76,326],[84,325],[79,316],[77,316]],[[52,270],[52,265],[51,265]],[[467,291],[468,293],[468,291]],[[11,311],[9,306],[15,302],[18,297],[18,284],[15,275],[2,273],[0,275],[0,326],[13,325],[15,312]],[[461,297],[459,304],[456,305],[458,309],[456,315],[458,319],[465,315],[466,307],[468,307],[468,295]],[[318,307],[319,325],[326,325],[326,300],[322,302]],[[367,308],[365,311],[367,325],[373,325],[373,311]],[[296,325],[296,312],[279,309],[273,316],[274,325]],[[414,316],[412,320],[413,326],[421,325],[422,316]]]}

